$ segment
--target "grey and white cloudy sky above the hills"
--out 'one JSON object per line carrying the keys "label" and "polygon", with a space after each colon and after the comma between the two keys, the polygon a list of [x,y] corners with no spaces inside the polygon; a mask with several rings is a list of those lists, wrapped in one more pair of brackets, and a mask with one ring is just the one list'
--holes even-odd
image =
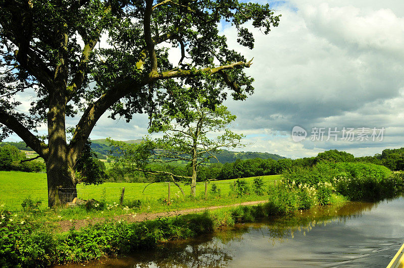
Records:
{"label": "grey and white cloudy sky above the hills", "polygon": [[[240,150],[296,158],[327,149],[361,156],[404,146],[404,1],[270,4],[282,14],[280,25],[269,35],[256,31],[252,50],[236,44],[233,28],[221,26],[230,46],[247,59],[254,57],[247,69],[255,78],[254,95],[225,103],[237,116],[233,131],[245,134],[249,143]],[[174,62],[177,56],[171,53]],[[307,131],[306,139],[293,141],[294,126]],[[147,134],[146,127],[144,115],[129,124],[105,115],[91,138],[138,139]],[[344,127],[354,140],[343,139]],[[333,133],[336,140],[327,141],[330,128],[339,131]],[[373,141],[374,128],[382,140]]]}

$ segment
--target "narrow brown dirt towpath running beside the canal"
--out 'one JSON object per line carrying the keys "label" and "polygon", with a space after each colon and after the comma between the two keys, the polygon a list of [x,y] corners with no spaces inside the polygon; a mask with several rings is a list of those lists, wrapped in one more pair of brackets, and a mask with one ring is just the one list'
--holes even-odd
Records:
{"label": "narrow brown dirt towpath running beside the canal", "polygon": [[[113,218],[114,221],[126,221],[130,223],[134,222],[143,222],[146,220],[154,220],[159,217],[174,217],[174,216],[179,216],[179,215],[185,215],[185,214],[190,214],[190,213],[195,213],[195,212],[200,212],[200,211],[205,211],[205,210],[214,210],[218,208],[223,208],[223,207],[234,207],[234,206],[239,206],[239,205],[256,205],[256,204],[262,204],[268,202],[267,200],[261,200],[261,201],[249,201],[249,202],[243,202],[243,203],[237,203],[237,204],[231,204],[231,205],[220,205],[220,206],[210,206],[210,207],[199,207],[199,208],[190,208],[190,209],[183,209],[183,210],[175,210],[175,211],[164,211],[164,212],[158,212],[158,213],[140,213],[140,214],[135,214],[135,213],[130,213],[130,214],[124,214],[124,215],[117,215]],[[105,218],[93,218],[93,219],[85,219],[85,220],[77,220],[77,221],[61,221],[59,222],[59,225],[61,227],[62,232],[69,231],[70,228],[74,225],[76,230],[79,230],[82,227],[85,227],[89,224],[96,224],[100,222],[104,222]]]}

